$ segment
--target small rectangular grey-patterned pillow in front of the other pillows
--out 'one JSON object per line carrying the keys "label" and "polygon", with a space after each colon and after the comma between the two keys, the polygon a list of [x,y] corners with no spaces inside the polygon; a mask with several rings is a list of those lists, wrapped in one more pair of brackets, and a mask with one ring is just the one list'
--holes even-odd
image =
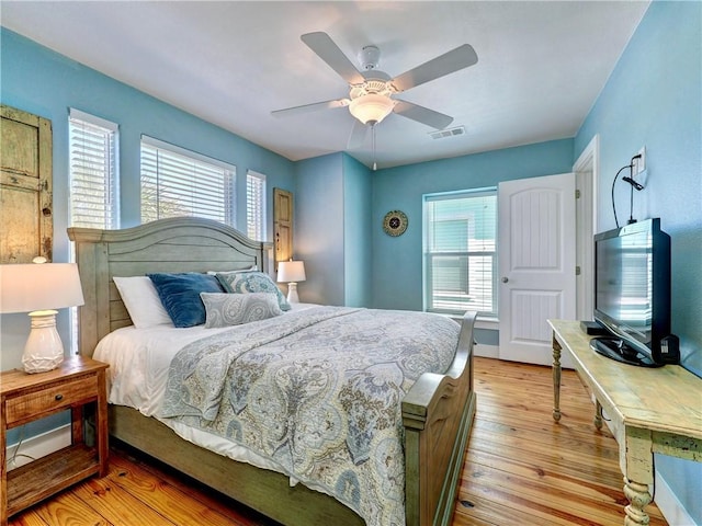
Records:
{"label": "small rectangular grey-patterned pillow in front of the other pillows", "polygon": [[213,294],[202,293],[207,319],[205,329],[241,325],[281,316],[278,298],[271,293]]}

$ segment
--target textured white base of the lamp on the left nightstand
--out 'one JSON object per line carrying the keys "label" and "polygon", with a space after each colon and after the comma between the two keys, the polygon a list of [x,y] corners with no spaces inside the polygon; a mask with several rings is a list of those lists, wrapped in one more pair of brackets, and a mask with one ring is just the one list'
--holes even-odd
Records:
{"label": "textured white base of the lamp on the left nightstand", "polygon": [[56,330],[56,311],[30,312],[32,331],[24,345],[22,366],[25,373],[53,370],[64,362],[64,344]]}

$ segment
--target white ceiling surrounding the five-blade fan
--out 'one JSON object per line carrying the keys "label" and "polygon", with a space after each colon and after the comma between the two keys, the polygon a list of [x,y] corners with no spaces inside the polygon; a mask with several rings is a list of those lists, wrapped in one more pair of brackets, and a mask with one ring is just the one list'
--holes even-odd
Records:
{"label": "white ceiling surrounding the five-blade fan", "polygon": [[[271,111],[348,96],[301,39],[322,31],[395,77],[471,44],[478,64],[403,93],[465,135],[390,114],[378,168],[573,137],[648,1],[1,1],[3,26],[291,160],[346,149],[348,108]],[[359,66],[360,67],[360,66]],[[373,163],[371,136],[349,153]]]}

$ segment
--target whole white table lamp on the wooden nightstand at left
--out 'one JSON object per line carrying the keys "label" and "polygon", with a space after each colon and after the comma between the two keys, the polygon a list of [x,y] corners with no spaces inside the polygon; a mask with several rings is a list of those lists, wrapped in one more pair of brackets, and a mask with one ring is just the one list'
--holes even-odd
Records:
{"label": "whole white table lamp on the wooden nightstand at left", "polygon": [[24,346],[26,373],[55,369],[64,361],[64,344],[56,330],[54,309],[83,305],[83,293],[75,263],[0,265],[0,313],[29,312],[32,331]]}

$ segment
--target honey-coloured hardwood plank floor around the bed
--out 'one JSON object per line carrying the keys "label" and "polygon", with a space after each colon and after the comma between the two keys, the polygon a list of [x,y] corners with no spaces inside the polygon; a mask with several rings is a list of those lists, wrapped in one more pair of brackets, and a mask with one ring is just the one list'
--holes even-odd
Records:
{"label": "honey-coloured hardwood plank floor around the bed", "polygon": [[[564,370],[563,418],[551,418],[551,368],[476,358],[477,413],[453,526],[621,525],[616,443]],[[655,505],[652,526],[665,526]],[[271,526],[273,523],[151,459],[112,445],[110,473],[79,483],[10,526]],[[339,525],[341,526],[341,525]]]}

